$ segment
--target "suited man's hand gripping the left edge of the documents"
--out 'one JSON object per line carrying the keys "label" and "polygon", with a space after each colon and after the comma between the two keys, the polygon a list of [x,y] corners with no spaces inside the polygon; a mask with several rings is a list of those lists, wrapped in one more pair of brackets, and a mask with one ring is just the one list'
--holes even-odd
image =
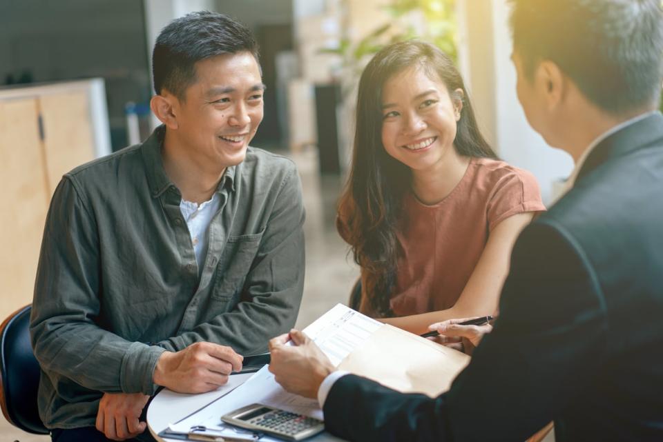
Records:
{"label": "suited man's hand gripping the left edge of the documents", "polygon": [[[291,339],[295,345],[285,345]],[[334,365],[318,345],[299,330],[290,330],[269,341],[269,371],[285,390],[315,399]]]}

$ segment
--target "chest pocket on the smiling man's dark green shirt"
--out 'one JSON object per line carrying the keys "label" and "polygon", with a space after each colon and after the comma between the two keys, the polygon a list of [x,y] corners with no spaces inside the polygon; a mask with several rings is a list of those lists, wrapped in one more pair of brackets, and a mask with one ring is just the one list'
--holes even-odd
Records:
{"label": "chest pocket on the smiling man's dark green shirt", "polygon": [[240,294],[258,254],[263,229],[256,234],[230,235],[216,269],[212,298],[229,301]]}

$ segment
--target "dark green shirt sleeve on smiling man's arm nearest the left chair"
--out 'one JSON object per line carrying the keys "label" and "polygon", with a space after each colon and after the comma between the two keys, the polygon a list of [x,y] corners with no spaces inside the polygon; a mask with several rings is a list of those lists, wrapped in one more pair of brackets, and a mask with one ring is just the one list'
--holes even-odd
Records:
{"label": "dark green shirt sleeve on smiling man's arm nearest the left chair", "polygon": [[41,368],[90,390],[153,394],[163,348],[104,330],[99,237],[93,212],[69,177],[53,195],[41,244],[30,334]]}

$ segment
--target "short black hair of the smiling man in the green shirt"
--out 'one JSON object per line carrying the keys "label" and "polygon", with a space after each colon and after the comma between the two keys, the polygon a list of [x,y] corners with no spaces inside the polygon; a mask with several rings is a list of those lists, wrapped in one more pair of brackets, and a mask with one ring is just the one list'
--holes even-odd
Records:
{"label": "short black hair of the smiling man in the green shirt", "polygon": [[154,90],[184,99],[195,82],[195,63],[222,54],[251,52],[258,61],[258,44],[249,28],[217,12],[191,12],[162,29],[152,52]]}

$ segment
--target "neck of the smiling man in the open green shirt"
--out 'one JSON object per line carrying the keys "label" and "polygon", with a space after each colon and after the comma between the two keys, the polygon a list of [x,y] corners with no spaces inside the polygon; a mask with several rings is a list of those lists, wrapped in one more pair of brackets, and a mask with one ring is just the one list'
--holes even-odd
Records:
{"label": "neck of the smiling man in the open green shirt", "polygon": [[166,130],[162,159],[166,175],[180,189],[182,199],[193,203],[209,201],[223,177],[225,168],[210,168],[196,161],[172,134]]}

